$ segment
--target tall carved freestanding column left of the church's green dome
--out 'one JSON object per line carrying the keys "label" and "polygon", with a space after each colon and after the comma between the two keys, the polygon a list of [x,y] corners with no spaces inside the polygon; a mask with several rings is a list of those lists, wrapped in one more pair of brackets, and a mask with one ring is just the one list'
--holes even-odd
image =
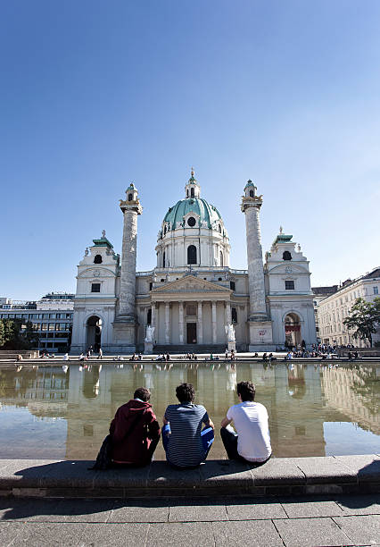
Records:
{"label": "tall carved freestanding column left of the church's green dome", "polygon": [[113,323],[113,338],[120,351],[128,352],[136,350],[137,215],[143,212],[133,183],[126,190],[126,199],[120,199],[120,209],[124,215],[120,299],[119,314]]}

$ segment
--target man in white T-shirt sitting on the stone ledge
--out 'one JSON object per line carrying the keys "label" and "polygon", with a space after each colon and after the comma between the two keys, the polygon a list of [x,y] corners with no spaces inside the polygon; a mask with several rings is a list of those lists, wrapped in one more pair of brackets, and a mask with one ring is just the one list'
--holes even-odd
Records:
{"label": "man in white T-shirt sitting on the stone ledge", "polygon": [[264,463],[272,454],[267,408],[254,402],[255,393],[252,382],[239,382],[237,396],[240,402],[228,408],[227,416],[221,422],[220,436],[228,459]]}

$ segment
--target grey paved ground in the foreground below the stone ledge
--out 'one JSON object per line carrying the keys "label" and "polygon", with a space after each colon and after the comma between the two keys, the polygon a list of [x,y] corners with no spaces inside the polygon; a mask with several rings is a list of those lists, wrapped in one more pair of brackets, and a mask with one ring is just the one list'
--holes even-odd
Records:
{"label": "grey paved ground in the foreground below the stone ledge", "polygon": [[213,501],[0,498],[0,545],[380,546],[380,495]]}

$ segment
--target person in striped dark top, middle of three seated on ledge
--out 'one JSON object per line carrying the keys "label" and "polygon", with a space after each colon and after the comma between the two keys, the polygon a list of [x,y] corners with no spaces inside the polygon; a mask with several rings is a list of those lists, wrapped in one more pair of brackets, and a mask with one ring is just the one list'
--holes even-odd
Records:
{"label": "person in striped dark top, middle of three seated on ledge", "polygon": [[198,467],[211,449],[214,425],[206,408],[194,404],[193,384],[178,385],[176,396],[179,405],[169,405],[163,417],[162,443],[166,459],[173,467]]}

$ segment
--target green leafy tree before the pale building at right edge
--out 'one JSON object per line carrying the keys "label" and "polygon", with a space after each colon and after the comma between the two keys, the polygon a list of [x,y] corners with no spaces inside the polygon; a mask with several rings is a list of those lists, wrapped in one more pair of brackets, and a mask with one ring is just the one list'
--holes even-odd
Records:
{"label": "green leafy tree before the pale building at right edge", "polygon": [[380,324],[380,298],[373,302],[367,302],[365,299],[356,299],[351,307],[350,316],[347,316],[343,324],[352,332],[354,338],[368,340],[372,347],[372,334],[376,332]]}

